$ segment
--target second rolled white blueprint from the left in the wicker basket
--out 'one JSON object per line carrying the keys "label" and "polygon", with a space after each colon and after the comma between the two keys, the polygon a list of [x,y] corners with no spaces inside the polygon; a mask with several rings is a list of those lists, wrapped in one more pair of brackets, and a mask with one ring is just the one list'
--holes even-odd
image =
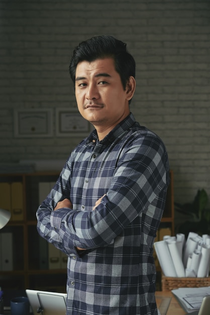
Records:
{"label": "second rolled white blueprint from the left in the wicker basket", "polygon": [[176,241],[168,241],[167,244],[168,244],[171,257],[173,258],[173,265],[174,265],[177,277],[185,277],[185,269],[182,263],[182,259],[181,259]]}

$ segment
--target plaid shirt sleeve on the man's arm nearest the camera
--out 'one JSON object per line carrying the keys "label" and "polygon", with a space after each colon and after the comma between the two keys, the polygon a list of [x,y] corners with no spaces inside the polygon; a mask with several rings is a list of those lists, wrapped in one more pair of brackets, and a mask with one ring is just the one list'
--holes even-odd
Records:
{"label": "plaid shirt sleeve on the man's arm nearest the camera", "polygon": [[[75,247],[90,250],[109,246],[155,199],[160,195],[164,198],[168,173],[167,153],[158,137],[133,140],[122,150],[112,183],[95,210],[51,208],[46,212],[42,205],[38,210],[38,230],[67,254],[75,252]],[[61,180],[64,184],[62,175]]]}

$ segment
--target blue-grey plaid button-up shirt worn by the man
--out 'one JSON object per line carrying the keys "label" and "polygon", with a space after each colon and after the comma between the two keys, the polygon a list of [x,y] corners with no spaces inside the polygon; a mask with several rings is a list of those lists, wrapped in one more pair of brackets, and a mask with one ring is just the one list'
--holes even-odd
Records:
{"label": "blue-grey plaid button-up shirt worn by the man", "polygon": [[[68,255],[67,314],[157,314],[153,241],[168,174],[163,142],[133,114],[73,150],[37,211],[40,235]],[[53,211],[64,198],[73,209]]]}

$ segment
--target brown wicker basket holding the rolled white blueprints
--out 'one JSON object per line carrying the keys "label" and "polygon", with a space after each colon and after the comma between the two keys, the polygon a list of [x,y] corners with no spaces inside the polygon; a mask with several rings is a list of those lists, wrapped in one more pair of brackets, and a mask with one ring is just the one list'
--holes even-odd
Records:
{"label": "brown wicker basket holding the rolled white blueprints", "polygon": [[205,278],[177,278],[162,275],[162,291],[171,291],[178,288],[198,288],[210,286],[210,277]]}

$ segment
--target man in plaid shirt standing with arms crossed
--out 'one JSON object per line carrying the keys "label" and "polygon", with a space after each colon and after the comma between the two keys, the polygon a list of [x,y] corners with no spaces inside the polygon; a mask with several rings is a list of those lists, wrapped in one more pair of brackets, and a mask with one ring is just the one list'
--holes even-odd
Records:
{"label": "man in plaid shirt standing with arms crossed", "polygon": [[169,167],[161,139],[130,113],[135,61],[98,36],[75,48],[69,70],[95,130],[37,211],[40,235],[68,255],[67,314],[157,314],[153,241]]}

